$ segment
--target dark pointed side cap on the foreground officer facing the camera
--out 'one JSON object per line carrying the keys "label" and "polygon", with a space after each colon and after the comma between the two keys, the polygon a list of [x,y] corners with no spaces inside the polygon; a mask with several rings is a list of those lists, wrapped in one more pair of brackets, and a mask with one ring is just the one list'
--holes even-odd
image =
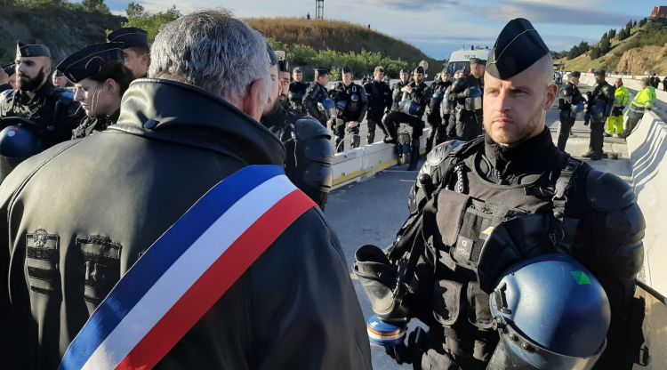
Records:
{"label": "dark pointed side cap on the foreground officer facing the camera", "polygon": [[549,54],[549,48],[529,20],[510,20],[495,40],[486,72],[502,80],[518,75]]}

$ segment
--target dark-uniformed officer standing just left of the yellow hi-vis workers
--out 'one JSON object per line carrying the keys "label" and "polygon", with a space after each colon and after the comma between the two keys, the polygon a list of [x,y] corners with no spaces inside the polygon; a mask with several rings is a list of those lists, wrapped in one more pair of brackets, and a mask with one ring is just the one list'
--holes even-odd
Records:
{"label": "dark-uniformed officer standing just left of the yellow hi-vis workers", "polygon": [[605,71],[595,71],[595,84],[591,99],[586,106],[586,121],[591,122],[591,141],[589,151],[582,157],[591,158],[591,161],[602,159],[604,145],[605,124],[607,117],[614,108],[615,88],[605,80]]}

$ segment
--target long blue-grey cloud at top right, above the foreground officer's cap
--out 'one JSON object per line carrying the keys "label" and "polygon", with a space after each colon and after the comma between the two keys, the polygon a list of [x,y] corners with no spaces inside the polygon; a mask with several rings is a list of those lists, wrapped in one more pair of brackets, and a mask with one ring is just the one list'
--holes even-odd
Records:
{"label": "long blue-grey cloud at top right, above the foreground officer's cap", "polygon": [[630,19],[639,16],[621,12],[609,12],[596,7],[595,1],[583,0],[578,6],[557,4],[555,0],[531,1],[507,0],[498,2],[493,8],[477,8],[475,13],[486,20],[508,21],[526,18],[533,23],[623,26]]}

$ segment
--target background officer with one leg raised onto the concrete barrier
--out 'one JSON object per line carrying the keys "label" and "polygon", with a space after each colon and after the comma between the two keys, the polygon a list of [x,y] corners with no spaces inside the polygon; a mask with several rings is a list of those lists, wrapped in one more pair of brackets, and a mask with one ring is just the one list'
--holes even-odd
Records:
{"label": "background officer with one leg raised onto the concrete barrier", "polygon": [[[398,125],[407,123],[413,128],[412,141],[410,143],[410,165],[407,171],[417,169],[417,160],[419,159],[419,139],[422,137],[424,121],[422,119],[426,104],[429,102],[429,86],[424,84],[424,68],[419,66],[414,68],[414,81],[401,87],[398,92],[400,101],[397,101],[398,83],[394,85],[394,105],[392,112],[385,118],[384,125],[390,132],[392,138],[398,138]],[[401,76],[401,84],[403,84]],[[397,110],[394,110],[397,109]]]}

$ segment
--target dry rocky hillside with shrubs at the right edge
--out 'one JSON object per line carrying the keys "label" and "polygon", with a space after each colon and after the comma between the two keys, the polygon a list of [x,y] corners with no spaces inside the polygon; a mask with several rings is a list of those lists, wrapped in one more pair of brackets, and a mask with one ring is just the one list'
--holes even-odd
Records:
{"label": "dry rocky hillside with shrubs at the right edge", "polygon": [[630,37],[623,41],[613,40],[611,50],[598,59],[583,54],[563,61],[567,70],[607,69],[634,75],[655,70],[659,75],[666,75],[666,45],[667,20],[648,20],[644,26],[632,28]]}

